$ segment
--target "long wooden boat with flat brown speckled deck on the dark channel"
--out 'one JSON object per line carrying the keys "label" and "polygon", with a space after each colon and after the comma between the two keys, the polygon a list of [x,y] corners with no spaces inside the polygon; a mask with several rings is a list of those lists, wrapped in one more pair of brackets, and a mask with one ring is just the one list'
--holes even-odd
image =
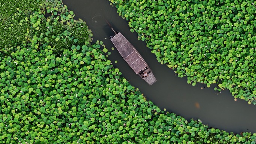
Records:
{"label": "long wooden boat with flat brown speckled deck on the dark channel", "polygon": [[[113,28],[112,28],[113,30]],[[113,30],[114,31],[114,30]],[[127,64],[132,68],[132,70],[138,74],[141,79],[144,79],[149,85],[156,82],[156,78],[149,68],[147,63],[141,57],[140,53],[128,42],[127,39],[120,33],[115,32],[115,36],[110,36],[110,40],[115,45],[118,52],[127,62]]]}

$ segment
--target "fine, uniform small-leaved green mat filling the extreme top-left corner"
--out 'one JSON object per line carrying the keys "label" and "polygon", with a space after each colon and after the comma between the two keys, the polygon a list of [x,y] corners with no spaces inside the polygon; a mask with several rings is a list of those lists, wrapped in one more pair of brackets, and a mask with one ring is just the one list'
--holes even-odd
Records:
{"label": "fine, uniform small-leaved green mat filling the extreme top-left corner", "polygon": [[25,40],[30,27],[24,19],[42,6],[43,0],[1,0],[0,2],[0,50],[9,51]]}

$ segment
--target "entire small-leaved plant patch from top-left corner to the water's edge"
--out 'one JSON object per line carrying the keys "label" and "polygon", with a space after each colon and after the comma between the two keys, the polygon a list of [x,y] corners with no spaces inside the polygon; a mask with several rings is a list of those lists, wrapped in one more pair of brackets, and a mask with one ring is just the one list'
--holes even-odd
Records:
{"label": "entire small-leaved plant patch from top-left corner to the water's edge", "polygon": [[[15,5],[15,10],[15,6],[9,4],[15,0],[4,2],[7,7],[0,18],[2,52],[10,54],[15,46],[25,45],[28,41],[37,43],[35,48],[47,43],[53,46],[54,53],[71,48],[73,44],[91,42],[92,34],[86,23],[81,19],[74,20],[73,11],[68,11],[61,1],[33,1],[30,4],[23,1]],[[27,5],[34,8],[27,9]],[[8,10],[13,13],[7,13]]]}

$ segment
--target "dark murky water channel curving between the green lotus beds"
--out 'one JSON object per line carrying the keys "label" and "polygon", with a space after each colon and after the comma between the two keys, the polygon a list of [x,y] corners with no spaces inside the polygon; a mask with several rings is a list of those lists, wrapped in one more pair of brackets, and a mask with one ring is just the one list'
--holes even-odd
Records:
{"label": "dark murky water channel curving between the green lotus beds", "polygon": [[[108,58],[112,64],[119,68],[122,76],[129,80],[132,86],[139,88],[147,100],[162,110],[166,108],[167,111],[183,116],[187,120],[200,119],[209,127],[227,132],[256,133],[255,105],[249,105],[241,99],[234,101],[228,90],[217,93],[214,91],[216,85],[211,85],[210,88],[204,88],[206,85],[201,83],[197,83],[196,86],[189,85],[186,77],[178,77],[173,70],[156,60],[156,56],[146,47],[146,43],[137,40],[137,33],[131,33],[128,22],[118,15],[116,8],[110,6],[108,0],[63,0],[63,3],[76,14],[76,19],[86,21],[93,33],[94,41],[103,41],[111,52]],[[114,33],[106,20],[138,50],[152,69],[157,82],[148,85],[132,71],[116,49],[111,49],[114,46],[109,36]]]}

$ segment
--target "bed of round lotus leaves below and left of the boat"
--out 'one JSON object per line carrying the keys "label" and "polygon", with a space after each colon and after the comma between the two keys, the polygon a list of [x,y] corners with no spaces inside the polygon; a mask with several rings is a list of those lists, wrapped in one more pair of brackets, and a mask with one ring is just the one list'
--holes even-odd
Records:
{"label": "bed of round lotus leaves below and left of the boat", "polygon": [[86,39],[76,45],[73,40],[70,48],[54,53],[57,43],[40,36],[49,32],[47,22],[60,32],[57,36],[66,29],[62,22],[54,24],[57,17],[48,18],[31,13],[27,19],[33,28],[27,33],[33,37],[27,34],[9,55],[0,51],[1,144],[255,144],[256,134],[229,134],[161,111],[113,68],[102,42],[90,45]]}

